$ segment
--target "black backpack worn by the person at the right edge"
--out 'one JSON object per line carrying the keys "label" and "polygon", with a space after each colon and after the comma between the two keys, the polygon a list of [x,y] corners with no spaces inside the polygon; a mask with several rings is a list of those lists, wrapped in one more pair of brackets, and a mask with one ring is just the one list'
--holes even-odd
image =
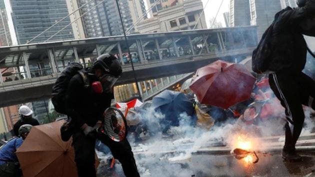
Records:
{"label": "black backpack worn by the person at the right edge", "polygon": [[252,52],[251,68],[256,73],[263,73],[268,69],[272,54],[272,29],[274,22],[263,33],[258,46]]}

